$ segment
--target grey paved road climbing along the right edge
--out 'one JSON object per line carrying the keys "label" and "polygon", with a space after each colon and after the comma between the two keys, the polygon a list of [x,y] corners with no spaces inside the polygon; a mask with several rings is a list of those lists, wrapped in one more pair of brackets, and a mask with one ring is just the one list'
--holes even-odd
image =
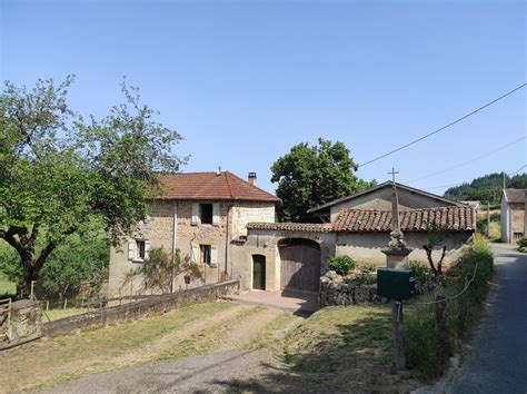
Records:
{"label": "grey paved road climbing along the right edge", "polygon": [[527,393],[527,255],[494,245],[497,289],[450,393]]}

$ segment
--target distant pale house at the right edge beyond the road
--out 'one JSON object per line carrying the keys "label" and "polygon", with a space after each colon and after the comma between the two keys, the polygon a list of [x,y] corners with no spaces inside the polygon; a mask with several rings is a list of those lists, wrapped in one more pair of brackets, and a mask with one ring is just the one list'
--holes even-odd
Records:
{"label": "distant pale house at the right edge beyond the road", "polygon": [[501,193],[501,240],[514,243],[527,234],[527,189]]}

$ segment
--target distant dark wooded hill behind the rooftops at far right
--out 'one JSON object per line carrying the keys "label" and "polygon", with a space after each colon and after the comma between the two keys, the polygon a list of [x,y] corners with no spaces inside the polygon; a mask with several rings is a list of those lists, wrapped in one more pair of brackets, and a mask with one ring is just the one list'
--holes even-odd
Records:
{"label": "distant dark wooded hill behind the rooftops at far right", "polygon": [[[499,204],[504,185],[503,173],[489,174],[474,179],[470,184],[450,187],[445,191],[445,197],[454,200],[478,199],[483,204]],[[514,177],[505,176],[506,185],[510,188],[527,188],[527,174]]]}

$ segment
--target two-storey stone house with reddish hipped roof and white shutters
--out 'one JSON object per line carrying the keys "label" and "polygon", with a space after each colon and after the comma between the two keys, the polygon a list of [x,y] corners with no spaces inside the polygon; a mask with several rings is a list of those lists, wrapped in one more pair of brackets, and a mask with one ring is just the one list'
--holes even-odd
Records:
{"label": "two-storey stone house with reddish hipped roof and white shutters", "polygon": [[[148,259],[152,247],[179,249],[199,263],[203,280],[192,287],[238,277],[232,265],[236,240],[247,236],[250,221],[275,221],[278,198],[256,186],[255,173],[248,180],[229,171],[173,174],[160,183],[162,195],[150,201],[149,218],[111,248],[110,298],[141,293],[141,280],[127,280],[127,275]],[[185,286],[183,279],[173,278],[172,286]]]}

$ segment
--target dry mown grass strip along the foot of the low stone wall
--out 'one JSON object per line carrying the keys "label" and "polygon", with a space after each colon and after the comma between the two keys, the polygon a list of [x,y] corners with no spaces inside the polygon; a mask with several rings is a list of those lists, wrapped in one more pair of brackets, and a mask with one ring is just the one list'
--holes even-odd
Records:
{"label": "dry mown grass strip along the foot of the low stone wall", "polygon": [[[217,329],[215,316],[237,304],[227,302],[197,304],[126,324],[38,341],[3,351],[0,391],[18,392],[46,387],[60,382],[159,359],[167,349],[181,348],[197,324]],[[207,323],[208,324],[207,324]],[[236,324],[236,318],[233,318]],[[181,354],[173,351],[172,357]]]}

